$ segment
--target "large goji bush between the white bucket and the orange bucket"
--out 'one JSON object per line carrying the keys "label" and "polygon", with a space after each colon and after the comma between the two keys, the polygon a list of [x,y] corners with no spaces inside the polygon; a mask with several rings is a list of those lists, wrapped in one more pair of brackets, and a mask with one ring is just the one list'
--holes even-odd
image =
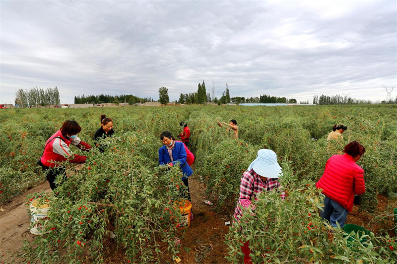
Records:
{"label": "large goji bush between the white bucket and the orange bucket", "polygon": [[114,248],[110,241],[123,253],[123,262],[175,256],[181,214],[174,201],[184,185],[177,166],[168,170],[153,160],[150,153],[158,149],[158,141],[133,132],[109,138],[112,147],[105,153],[90,152],[83,168],[70,168],[67,180],[59,177],[61,186],[50,197],[52,209],[40,223],[49,233],[25,245],[25,258],[100,262]]}

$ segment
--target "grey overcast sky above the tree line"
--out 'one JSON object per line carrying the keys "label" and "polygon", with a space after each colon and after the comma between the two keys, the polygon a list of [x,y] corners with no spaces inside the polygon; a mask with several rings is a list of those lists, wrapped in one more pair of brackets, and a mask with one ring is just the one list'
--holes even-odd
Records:
{"label": "grey overcast sky above the tree line", "polygon": [[[397,1],[0,1],[0,103],[17,89],[171,100],[384,100],[397,85]],[[392,93],[395,99],[397,88]]]}

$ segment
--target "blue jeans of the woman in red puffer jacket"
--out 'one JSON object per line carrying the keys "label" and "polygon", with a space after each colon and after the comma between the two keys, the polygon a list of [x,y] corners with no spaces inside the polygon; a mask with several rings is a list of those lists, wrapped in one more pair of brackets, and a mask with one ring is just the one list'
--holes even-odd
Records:
{"label": "blue jeans of the woman in red puffer jacket", "polygon": [[343,206],[327,197],[324,198],[324,211],[320,211],[321,218],[328,220],[332,227],[337,227],[336,222],[343,228],[349,213]]}

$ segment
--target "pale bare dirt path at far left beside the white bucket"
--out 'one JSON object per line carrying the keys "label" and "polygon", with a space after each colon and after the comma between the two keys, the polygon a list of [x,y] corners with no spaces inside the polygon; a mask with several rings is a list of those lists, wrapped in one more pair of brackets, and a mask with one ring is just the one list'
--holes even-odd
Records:
{"label": "pale bare dirt path at far left beside the white bucket", "polygon": [[51,192],[48,182],[44,182],[23,195],[13,198],[10,202],[1,205],[0,210],[0,260],[5,263],[21,263],[17,257],[23,240],[33,241],[34,236],[29,233],[30,217],[25,207],[26,197],[29,194],[42,191]]}

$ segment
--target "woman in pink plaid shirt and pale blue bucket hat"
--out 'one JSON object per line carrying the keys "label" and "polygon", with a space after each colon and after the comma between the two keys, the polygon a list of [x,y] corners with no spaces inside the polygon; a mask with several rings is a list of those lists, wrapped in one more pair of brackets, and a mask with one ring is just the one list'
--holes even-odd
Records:
{"label": "woman in pink plaid shirt and pale blue bucket hat", "polygon": [[[280,192],[281,185],[277,181],[282,175],[281,167],[277,163],[277,155],[270,149],[258,150],[257,158],[251,163],[241,177],[240,197],[234,211],[234,218],[237,222],[243,216],[244,209],[252,206],[253,199],[258,200],[258,195],[263,191],[275,190]],[[284,200],[285,192],[281,192],[281,199]],[[241,247],[244,253],[244,263],[251,263],[249,241]]]}

